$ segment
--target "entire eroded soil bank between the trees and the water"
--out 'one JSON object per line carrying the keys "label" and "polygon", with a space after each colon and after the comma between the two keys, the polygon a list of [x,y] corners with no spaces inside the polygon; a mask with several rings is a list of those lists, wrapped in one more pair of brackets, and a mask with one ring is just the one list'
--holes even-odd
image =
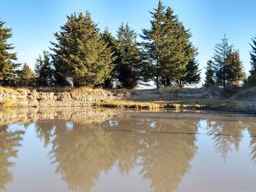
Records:
{"label": "entire eroded soil bank between the trees and the water", "polygon": [[6,107],[112,107],[159,110],[217,110],[256,114],[256,88],[223,91],[219,88],[165,88],[160,90],[102,90],[1,88]]}

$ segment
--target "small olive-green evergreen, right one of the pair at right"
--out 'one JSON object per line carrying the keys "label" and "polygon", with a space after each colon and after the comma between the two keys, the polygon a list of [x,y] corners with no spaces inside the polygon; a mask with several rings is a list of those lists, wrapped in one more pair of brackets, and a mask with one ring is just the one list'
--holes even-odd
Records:
{"label": "small olive-green evergreen, right one of the pair at right", "polygon": [[229,62],[227,73],[228,82],[230,85],[239,86],[245,80],[246,74],[237,50],[230,54]]}

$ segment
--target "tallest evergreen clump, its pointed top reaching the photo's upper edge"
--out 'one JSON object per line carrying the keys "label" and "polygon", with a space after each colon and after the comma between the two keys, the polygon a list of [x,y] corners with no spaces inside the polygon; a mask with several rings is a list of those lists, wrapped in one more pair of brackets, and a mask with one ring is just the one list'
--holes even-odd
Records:
{"label": "tallest evergreen clump, its pointed top reaching the photo's upper edge", "polygon": [[154,11],[151,12],[151,28],[143,29],[141,37],[147,41],[144,45],[155,66],[157,88],[160,86],[159,81],[164,85],[176,82],[179,87],[197,83],[200,80],[198,64],[195,62],[197,50],[189,42],[190,32],[174,15],[173,9],[165,9],[161,1]]}

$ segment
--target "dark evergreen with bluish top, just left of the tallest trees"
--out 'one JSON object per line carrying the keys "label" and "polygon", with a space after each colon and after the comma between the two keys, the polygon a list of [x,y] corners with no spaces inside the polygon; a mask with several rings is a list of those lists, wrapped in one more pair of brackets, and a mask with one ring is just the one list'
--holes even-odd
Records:
{"label": "dark evergreen with bluish top, just left of the tallest trees", "polygon": [[118,28],[119,58],[117,64],[117,79],[121,88],[135,88],[141,78],[141,55],[137,42],[137,34],[127,24]]}

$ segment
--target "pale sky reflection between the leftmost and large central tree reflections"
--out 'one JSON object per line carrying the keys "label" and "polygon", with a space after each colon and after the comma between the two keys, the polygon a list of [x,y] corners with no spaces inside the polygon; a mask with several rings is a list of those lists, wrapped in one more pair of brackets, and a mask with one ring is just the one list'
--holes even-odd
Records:
{"label": "pale sky reflection between the leftmost and large central tree reflections", "polygon": [[[46,148],[43,142],[37,138],[31,123],[26,129],[21,147],[18,147],[18,158],[12,158],[15,166],[10,169],[14,175],[13,183],[8,183],[8,191],[66,191],[67,185],[61,181],[61,177],[54,174],[56,165],[50,163],[48,153],[51,145]],[[14,124],[11,129],[25,129],[23,126]]]}

